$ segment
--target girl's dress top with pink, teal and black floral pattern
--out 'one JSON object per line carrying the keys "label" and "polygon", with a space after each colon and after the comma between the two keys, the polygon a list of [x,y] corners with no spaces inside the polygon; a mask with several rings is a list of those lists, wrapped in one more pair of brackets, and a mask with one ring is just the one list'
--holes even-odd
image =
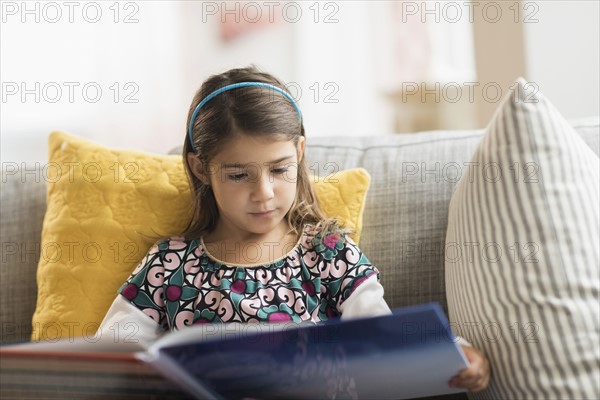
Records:
{"label": "girl's dress top with pink, teal and black floral pattern", "polygon": [[258,266],[228,265],[202,240],[157,242],[119,293],[165,331],[213,322],[320,322],[379,271],[351,238],[336,230],[317,236],[307,225],[285,256]]}

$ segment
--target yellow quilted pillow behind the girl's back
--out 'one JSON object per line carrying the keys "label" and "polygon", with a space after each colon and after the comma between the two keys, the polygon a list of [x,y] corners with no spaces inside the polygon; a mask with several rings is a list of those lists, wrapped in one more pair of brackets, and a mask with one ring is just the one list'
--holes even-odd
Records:
{"label": "yellow quilted pillow behind the girl's back", "polygon": [[[64,132],[48,141],[47,210],[32,340],[93,337],[121,284],[155,242],[190,218],[180,155],[115,150]],[[315,178],[323,211],[357,243],[370,177],[364,169]]]}

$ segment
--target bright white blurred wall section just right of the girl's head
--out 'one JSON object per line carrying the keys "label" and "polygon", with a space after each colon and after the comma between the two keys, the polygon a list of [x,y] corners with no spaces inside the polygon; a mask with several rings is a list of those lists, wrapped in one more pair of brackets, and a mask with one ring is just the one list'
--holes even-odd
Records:
{"label": "bright white blurred wall section just right of the girl's head", "polygon": [[[377,85],[373,3],[337,2],[317,14],[303,6],[294,25],[296,67],[307,135],[391,131],[390,110]],[[309,136],[310,137],[310,136]]]}

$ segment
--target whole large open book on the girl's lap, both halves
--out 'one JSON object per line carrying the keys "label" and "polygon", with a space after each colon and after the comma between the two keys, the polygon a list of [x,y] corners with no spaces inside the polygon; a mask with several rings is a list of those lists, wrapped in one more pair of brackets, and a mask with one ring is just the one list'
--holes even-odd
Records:
{"label": "whole large open book on the girl's lap, both halves", "polygon": [[437,303],[320,324],[198,325],[146,350],[2,346],[0,360],[3,396],[63,398],[414,398],[464,391],[448,381],[468,366]]}

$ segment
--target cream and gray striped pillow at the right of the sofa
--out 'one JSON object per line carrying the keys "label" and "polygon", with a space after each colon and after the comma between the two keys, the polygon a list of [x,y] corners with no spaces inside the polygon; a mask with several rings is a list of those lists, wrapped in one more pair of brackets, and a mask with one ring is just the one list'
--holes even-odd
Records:
{"label": "cream and gray striped pillow at the right of the sofa", "polygon": [[450,321],[489,357],[478,399],[600,398],[598,156],[522,78],[450,202]]}

